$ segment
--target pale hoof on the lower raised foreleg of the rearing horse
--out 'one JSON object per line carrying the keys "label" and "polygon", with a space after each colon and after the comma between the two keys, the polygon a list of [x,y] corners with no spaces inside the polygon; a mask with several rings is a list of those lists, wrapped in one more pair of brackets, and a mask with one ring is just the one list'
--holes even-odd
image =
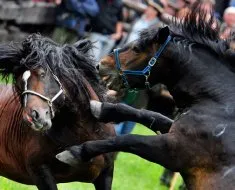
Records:
{"label": "pale hoof on the lower raised foreleg of the rearing horse", "polygon": [[68,164],[70,166],[76,166],[79,163],[78,159],[69,150],[65,150],[65,151],[57,154],[56,158],[59,161],[65,163],[65,164]]}

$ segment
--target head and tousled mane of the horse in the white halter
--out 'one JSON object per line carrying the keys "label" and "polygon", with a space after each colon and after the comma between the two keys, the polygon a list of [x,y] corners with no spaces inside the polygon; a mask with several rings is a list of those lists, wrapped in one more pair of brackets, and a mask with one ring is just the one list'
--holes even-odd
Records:
{"label": "head and tousled mane of the horse in the white halter", "polygon": [[69,108],[69,115],[88,105],[84,80],[97,80],[96,68],[86,55],[90,47],[87,40],[60,46],[38,34],[30,35],[20,47],[0,47],[1,73],[13,74],[23,118],[33,130],[49,130],[62,107]]}

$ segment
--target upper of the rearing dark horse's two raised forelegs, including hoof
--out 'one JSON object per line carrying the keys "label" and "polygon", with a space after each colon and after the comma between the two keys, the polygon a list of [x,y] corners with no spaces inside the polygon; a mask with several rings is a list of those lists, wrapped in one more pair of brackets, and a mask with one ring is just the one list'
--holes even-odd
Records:
{"label": "upper of the rearing dark horse's two raised forelegs, including hoof", "polygon": [[90,104],[92,114],[101,122],[134,121],[161,133],[167,133],[173,123],[173,120],[160,113],[135,109],[126,104],[101,103],[94,100]]}

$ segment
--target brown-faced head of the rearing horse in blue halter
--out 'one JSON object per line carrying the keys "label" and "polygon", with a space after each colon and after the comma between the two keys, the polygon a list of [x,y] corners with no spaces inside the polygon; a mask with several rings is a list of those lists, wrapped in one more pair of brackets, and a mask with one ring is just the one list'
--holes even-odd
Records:
{"label": "brown-faced head of the rearing horse in blue halter", "polygon": [[100,61],[98,69],[102,79],[110,89],[117,91],[128,86],[145,88],[153,78],[152,69],[158,69],[159,77],[167,74],[166,65],[161,60],[163,56],[167,58],[170,40],[168,27],[158,32],[155,28],[143,31],[138,40],[115,49]]}

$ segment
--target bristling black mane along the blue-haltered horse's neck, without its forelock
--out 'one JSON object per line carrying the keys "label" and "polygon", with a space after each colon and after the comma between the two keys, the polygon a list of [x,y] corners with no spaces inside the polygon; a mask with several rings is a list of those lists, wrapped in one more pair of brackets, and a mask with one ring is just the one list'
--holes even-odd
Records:
{"label": "bristling black mane along the blue-haltered horse's neck, without its forelock", "polygon": [[196,3],[192,7],[192,12],[184,19],[179,22],[173,20],[171,33],[176,41],[186,40],[188,45],[201,45],[223,56],[229,49],[229,40],[220,39],[218,20],[212,12],[208,15],[203,11],[201,6],[200,3]]}

